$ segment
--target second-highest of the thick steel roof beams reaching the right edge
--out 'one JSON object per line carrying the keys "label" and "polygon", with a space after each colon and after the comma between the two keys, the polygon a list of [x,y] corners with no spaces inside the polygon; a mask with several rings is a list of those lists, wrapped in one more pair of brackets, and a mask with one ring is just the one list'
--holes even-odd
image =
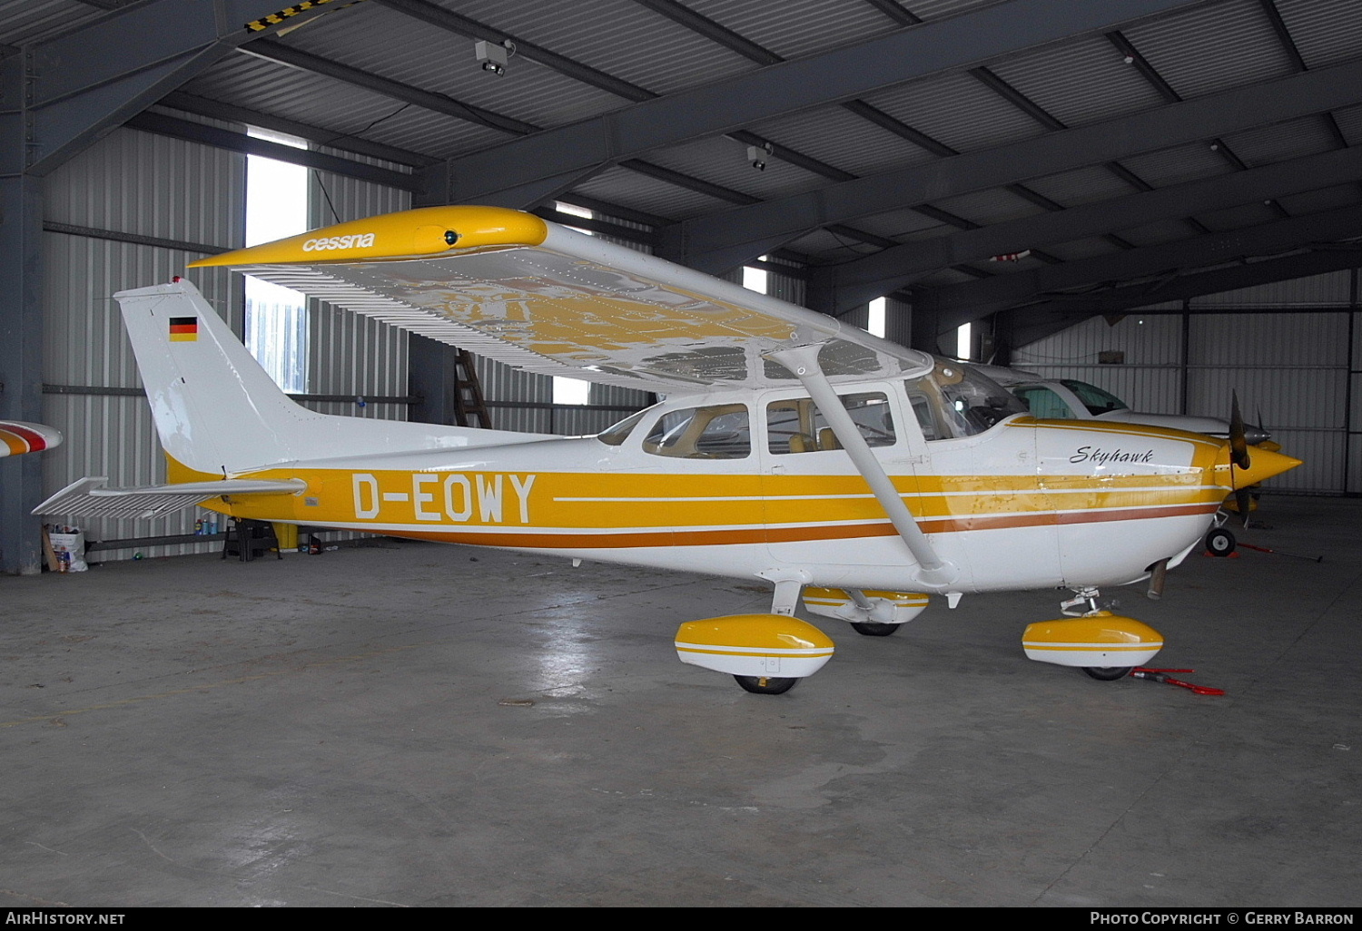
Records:
{"label": "second-highest of the thick steel roof beams reaching the right edge", "polygon": [[1231,174],[1023,216],[951,235],[896,245],[832,270],[836,310],[873,301],[947,265],[1129,230],[1188,214],[1260,203],[1362,180],[1362,150],[1308,155]]}

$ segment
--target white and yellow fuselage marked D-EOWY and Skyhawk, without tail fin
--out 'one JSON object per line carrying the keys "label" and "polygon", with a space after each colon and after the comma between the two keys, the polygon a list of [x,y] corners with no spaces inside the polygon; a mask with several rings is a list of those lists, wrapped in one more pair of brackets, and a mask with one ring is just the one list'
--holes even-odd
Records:
{"label": "white and yellow fuselage marked D-EOWY and Skyhawk, without tail fin", "polygon": [[[1231,485],[1226,444],[1205,436],[1012,415],[974,436],[929,440],[911,387],[907,396],[892,381],[839,393],[870,399],[858,422],[932,544],[960,568],[949,591],[1136,581],[1197,543]],[[816,585],[921,591],[904,542],[806,404],[798,388],[729,391],[677,397],[602,437],[281,463],[251,475],[298,478],[306,491],[222,509],[740,578],[790,569]]]}

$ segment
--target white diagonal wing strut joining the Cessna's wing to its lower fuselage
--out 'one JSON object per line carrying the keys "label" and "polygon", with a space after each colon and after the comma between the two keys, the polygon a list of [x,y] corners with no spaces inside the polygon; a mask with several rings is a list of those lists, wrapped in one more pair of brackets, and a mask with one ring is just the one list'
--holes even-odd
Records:
{"label": "white diagonal wing strut joining the Cessna's wing to its lower fuselage", "polygon": [[819,365],[819,350],[821,347],[821,343],[795,346],[794,348],[770,353],[768,358],[775,359],[789,369],[799,380],[805,391],[809,392],[813,403],[819,406],[819,411],[827,419],[828,426],[832,427],[832,433],[842,444],[842,448],[846,449],[847,456],[851,457],[851,463],[857,471],[861,472],[861,478],[870,486],[870,491],[874,493],[880,506],[884,508],[889,523],[899,531],[899,536],[908,546],[913,558],[918,561],[917,584],[937,592],[945,591],[951,583],[959,578],[959,568],[937,555],[926,534],[918,527],[918,521],[913,519],[913,512],[903,504],[903,498],[899,495],[898,489],[893,487],[893,482],[889,480],[884,467],[880,466],[880,460],[870,452],[869,444],[861,436],[861,430],[857,429],[851,415],[842,406],[842,399],[838,397],[838,392],[828,382],[828,377]]}

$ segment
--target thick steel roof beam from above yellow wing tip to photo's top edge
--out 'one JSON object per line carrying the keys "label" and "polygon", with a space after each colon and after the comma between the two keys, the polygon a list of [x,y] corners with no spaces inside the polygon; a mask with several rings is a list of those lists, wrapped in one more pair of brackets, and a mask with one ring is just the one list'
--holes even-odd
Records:
{"label": "thick steel roof beam from above yellow wing tip to photo's top edge", "polygon": [[451,161],[451,201],[477,201],[648,150],[730,133],[752,122],[840,103],[885,86],[972,67],[1011,52],[1110,30],[1196,0],[1013,0],[823,54],[669,94]]}

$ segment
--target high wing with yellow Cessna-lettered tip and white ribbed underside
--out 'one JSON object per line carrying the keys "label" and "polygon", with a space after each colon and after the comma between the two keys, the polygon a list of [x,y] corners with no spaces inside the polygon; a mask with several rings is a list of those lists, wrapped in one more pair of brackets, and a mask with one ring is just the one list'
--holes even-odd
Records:
{"label": "high wing with yellow Cessna-lettered tip and white ribbed underside", "polygon": [[500,207],[387,214],[193,263],[210,265],[518,369],[667,395],[795,384],[767,357],[808,344],[834,381],[932,368],[832,317]]}

